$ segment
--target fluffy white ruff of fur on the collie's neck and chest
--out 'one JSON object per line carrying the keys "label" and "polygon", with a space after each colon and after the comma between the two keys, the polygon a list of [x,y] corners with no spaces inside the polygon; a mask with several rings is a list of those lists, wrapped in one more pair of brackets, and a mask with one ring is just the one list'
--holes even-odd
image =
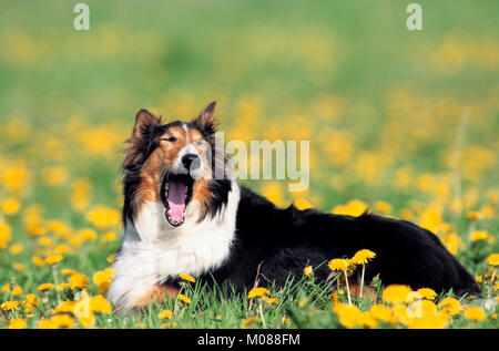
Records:
{"label": "fluffy white ruff of fur on the collie's neck and chest", "polygon": [[135,226],[123,231],[108,299],[116,309],[129,309],[167,277],[196,277],[222,265],[234,238],[238,202],[240,187],[232,182],[227,205],[216,216],[197,223],[200,203],[192,200],[180,227],[166,221],[161,202],[145,203]]}

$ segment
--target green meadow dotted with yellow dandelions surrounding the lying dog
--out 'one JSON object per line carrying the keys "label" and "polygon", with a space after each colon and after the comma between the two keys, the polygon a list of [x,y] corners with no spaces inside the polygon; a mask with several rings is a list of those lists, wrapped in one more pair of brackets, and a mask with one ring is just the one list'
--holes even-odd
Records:
{"label": "green meadow dotted with yellow dandelions surrounding the lying dog", "polygon": [[[86,3],[89,31],[68,1],[0,3],[0,328],[498,328],[497,1],[418,1],[422,31],[406,1]],[[242,183],[428,228],[482,298],[379,280],[360,298],[304,267],[222,300],[185,276],[175,299],[113,313],[134,115],[190,120],[214,100],[226,141],[310,143],[306,192]]]}

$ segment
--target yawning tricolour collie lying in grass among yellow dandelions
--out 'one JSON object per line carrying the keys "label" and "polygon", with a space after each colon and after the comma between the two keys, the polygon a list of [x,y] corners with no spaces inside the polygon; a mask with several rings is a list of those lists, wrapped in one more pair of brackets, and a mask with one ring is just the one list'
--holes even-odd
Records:
{"label": "yawning tricolour collie lying in grass among yellow dandelions", "polygon": [[315,267],[359,249],[376,252],[366,281],[480,296],[473,277],[438,237],[405,220],[278,208],[235,179],[213,176],[227,157],[210,152],[215,103],[191,122],[163,124],[146,110],[135,116],[123,171],[123,235],[108,299],[118,310],[146,306],[179,291],[180,273],[247,291],[255,280],[283,287]]}

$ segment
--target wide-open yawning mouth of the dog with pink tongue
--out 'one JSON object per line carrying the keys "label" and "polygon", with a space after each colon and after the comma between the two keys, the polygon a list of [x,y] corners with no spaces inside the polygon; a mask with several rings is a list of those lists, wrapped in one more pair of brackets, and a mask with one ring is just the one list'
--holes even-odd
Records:
{"label": "wide-open yawning mouth of the dog with pink tongue", "polygon": [[185,220],[185,208],[192,198],[194,179],[189,174],[167,174],[161,182],[161,200],[164,216],[174,227]]}

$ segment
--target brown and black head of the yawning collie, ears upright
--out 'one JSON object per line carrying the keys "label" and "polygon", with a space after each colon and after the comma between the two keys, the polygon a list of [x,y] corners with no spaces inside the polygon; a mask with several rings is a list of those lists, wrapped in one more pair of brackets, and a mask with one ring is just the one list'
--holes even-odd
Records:
{"label": "brown and black head of the yawning collie, ears upright", "polygon": [[123,162],[123,219],[134,221],[144,202],[160,202],[172,227],[185,221],[187,206],[197,202],[198,220],[226,202],[231,182],[216,179],[225,155],[215,149],[215,103],[191,122],[163,124],[146,110],[136,114]]}

